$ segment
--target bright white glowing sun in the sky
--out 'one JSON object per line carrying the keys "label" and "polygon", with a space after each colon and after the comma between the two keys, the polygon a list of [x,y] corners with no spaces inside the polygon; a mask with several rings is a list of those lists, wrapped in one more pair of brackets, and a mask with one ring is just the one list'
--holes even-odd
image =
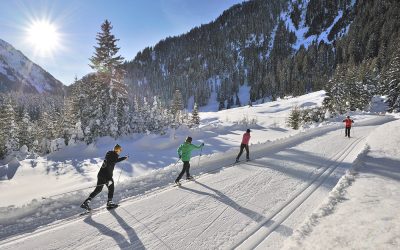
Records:
{"label": "bright white glowing sun in the sky", "polygon": [[27,28],[27,41],[39,56],[52,56],[60,48],[60,33],[54,23],[33,21]]}

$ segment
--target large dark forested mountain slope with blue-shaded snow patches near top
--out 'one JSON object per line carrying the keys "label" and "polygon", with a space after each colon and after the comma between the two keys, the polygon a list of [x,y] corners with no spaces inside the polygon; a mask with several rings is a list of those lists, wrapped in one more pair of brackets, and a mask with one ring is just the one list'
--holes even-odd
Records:
{"label": "large dark forested mountain slope with blue-shaded snow patches near top", "polygon": [[139,52],[126,82],[166,102],[176,89],[185,104],[193,97],[201,106],[215,93],[223,108],[237,105],[243,84],[252,101],[326,89],[338,65],[377,85],[399,37],[399,11],[393,0],[244,2]]}

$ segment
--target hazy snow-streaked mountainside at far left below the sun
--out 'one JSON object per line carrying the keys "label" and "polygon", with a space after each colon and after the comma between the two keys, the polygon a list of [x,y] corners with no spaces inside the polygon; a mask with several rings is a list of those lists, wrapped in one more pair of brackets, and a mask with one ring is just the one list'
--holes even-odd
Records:
{"label": "hazy snow-streaked mountainside at far left below the sun", "polygon": [[62,94],[63,85],[0,39],[0,92],[8,91]]}

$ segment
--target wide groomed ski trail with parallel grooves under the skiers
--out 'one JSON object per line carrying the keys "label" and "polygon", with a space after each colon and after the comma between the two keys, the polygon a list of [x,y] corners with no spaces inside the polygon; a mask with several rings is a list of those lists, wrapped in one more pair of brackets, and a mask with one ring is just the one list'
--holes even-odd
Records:
{"label": "wide groomed ski trail with parallel grooves under the skiers", "polygon": [[253,145],[253,160],[236,165],[229,165],[233,155],[204,158],[204,167],[191,171],[204,174],[182,187],[171,184],[125,199],[115,210],[96,209],[5,239],[0,249],[279,249],[327,197],[376,125],[391,120],[358,123],[350,139],[329,126]]}

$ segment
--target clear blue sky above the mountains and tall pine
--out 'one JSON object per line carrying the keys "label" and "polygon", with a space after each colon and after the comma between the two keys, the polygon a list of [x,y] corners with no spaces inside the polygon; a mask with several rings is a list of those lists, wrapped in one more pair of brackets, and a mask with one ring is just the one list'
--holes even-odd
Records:
{"label": "clear blue sky above the mountains and tall pine", "polygon": [[[96,34],[105,20],[120,39],[120,54],[127,60],[168,36],[215,20],[243,0],[0,0],[0,39],[69,85],[91,72],[88,66]],[[32,20],[48,20],[60,34],[62,47],[51,55],[37,55],[27,43]]]}

